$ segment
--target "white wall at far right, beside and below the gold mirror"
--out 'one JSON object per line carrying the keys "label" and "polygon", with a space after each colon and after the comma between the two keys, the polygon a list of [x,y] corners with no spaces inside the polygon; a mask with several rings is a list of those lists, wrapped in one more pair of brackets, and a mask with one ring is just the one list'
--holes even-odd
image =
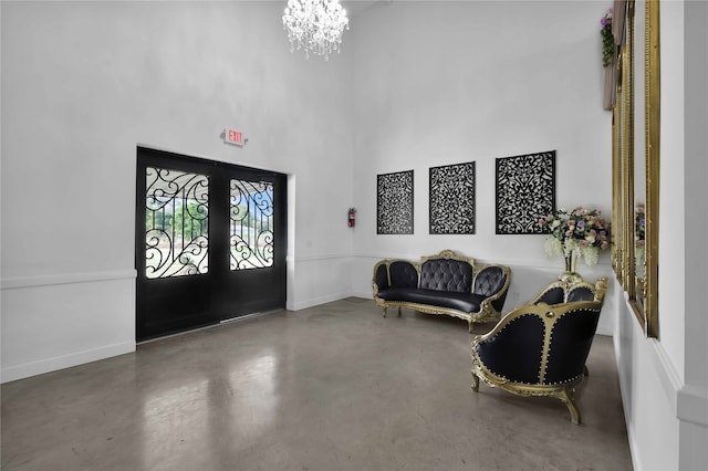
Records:
{"label": "white wall at far right, beside and below the gold mirror", "polygon": [[707,3],[660,3],[659,338],[645,338],[622,294],[614,337],[637,470],[708,462],[707,31]]}

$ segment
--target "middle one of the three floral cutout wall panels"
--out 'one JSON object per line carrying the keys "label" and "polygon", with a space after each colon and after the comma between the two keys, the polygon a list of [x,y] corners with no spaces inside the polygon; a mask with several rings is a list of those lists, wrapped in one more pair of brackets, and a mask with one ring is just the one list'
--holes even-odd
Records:
{"label": "middle one of the three floral cutout wall panels", "polygon": [[430,233],[475,233],[475,163],[430,168]]}

